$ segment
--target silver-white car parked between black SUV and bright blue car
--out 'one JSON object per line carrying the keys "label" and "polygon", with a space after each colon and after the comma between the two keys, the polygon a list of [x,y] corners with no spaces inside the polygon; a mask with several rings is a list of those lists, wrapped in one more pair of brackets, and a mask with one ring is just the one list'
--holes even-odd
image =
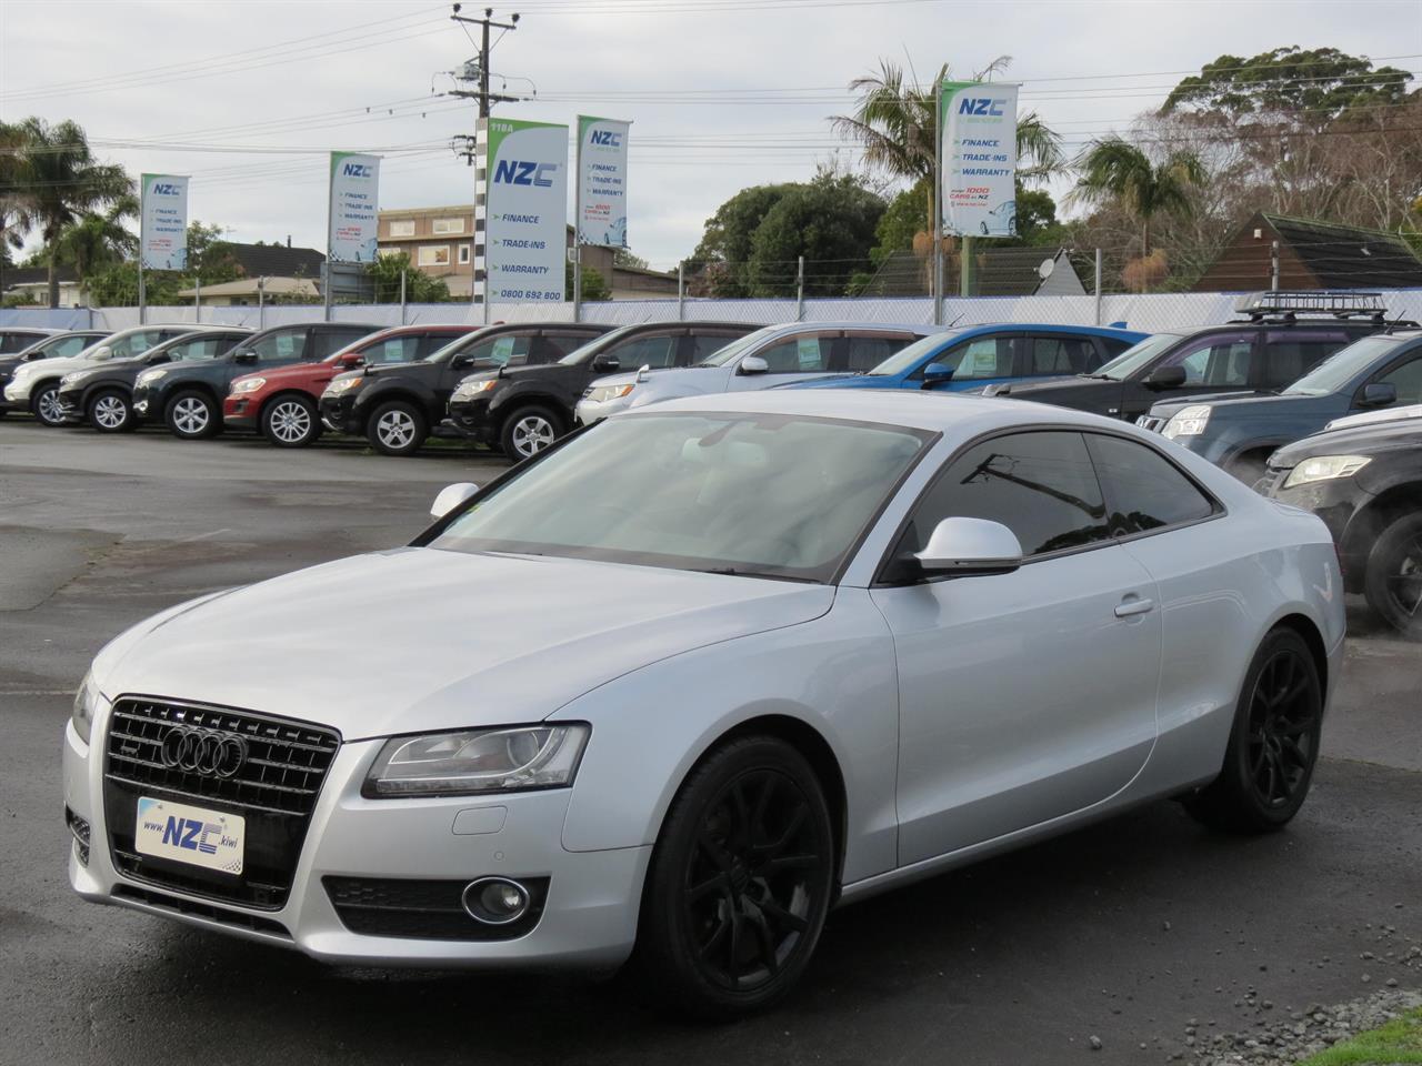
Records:
{"label": "silver-white car parked between black SUV and bright blue car", "polygon": [[809,381],[829,374],[865,372],[941,325],[870,323],[789,323],[731,341],[694,367],[641,370],[599,378],[583,392],[577,422],[678,397],[752,389]]}

